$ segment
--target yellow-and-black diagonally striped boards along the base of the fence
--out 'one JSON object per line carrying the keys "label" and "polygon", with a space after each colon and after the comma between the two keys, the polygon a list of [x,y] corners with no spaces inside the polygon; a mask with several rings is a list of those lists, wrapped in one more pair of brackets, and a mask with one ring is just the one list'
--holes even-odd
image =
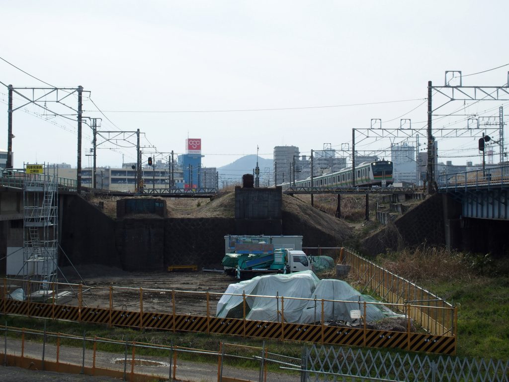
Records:
{"label": "yellow-and-black diagonally striped boards along the base of the fence", "polygon": [[344,328],[324,324],[253,321],[200,315],[134,312],[128,310],[33,303],[2,298],[2,313],[37,318],[91,322],[130,328],[201,332],[253,338],[305,341],[330,345],[399,348],[455,354],[456,337],[423,333]]}

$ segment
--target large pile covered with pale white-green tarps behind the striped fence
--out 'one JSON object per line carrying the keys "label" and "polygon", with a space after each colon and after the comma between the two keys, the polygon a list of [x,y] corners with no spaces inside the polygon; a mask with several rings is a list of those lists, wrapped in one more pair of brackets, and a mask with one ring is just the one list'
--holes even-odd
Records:
{"label": "large pile covered with pale white-green tarps behind the striped fence", "polygon": [[[376,302],[371,296],[360,294],[341,280],[319,280],[310,270],[290,275],[266,275],[230,284],[217,304],[217,317],[238,317],[243,312],[242,293],[246,295],[246,319],[279,321],[281,298],[284,296],[285,322],[314,323],[322,320],[322,299],[344,302],[324,302],[324,321],[352,321],[350,312],[364,312],[363,302]],[[237,295],[229,295],[237,294]],[[287,297],[311,298],[312,301]],[[316,298],[316,301],[315,301]],[[240,310],[240,312],[239,312]],[[366,321],[386,317],[400,317],[383,305],[366,305]]]}

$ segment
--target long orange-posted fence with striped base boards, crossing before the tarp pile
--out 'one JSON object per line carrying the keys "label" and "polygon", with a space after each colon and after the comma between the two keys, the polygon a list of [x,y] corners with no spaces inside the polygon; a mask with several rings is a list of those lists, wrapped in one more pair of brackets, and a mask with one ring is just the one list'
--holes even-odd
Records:
{"label": "long orange-posted fence with striped base boards, crossing before the tarp pile", "polygon": [[[11,291],[20,287],[24,287],[26,299],[17,301],[9,298]],[[31,297],[31,291],[35,290],[45,290],[47,293],[42,294],[44,298],[35,300]],[[68,293],[62,293],[64,291]],[[284,294],[284,291],[281,292]],[[236,298],[236,308],[231,309],[226,317],[216,316],[219,299],[225,295]],[[29,317],[445,354],[454,354],[456,351],[456,337],[445,330],[446,327],[456,327],[455,309],[430,302],[400,300],[400,303],[378,303],[286,297],[279,293],[276,296],[260,296],[117,286],[91,287],[38,281],[23,284],[19,279],[4,279],[2,296],[0,310],[3,313]],[[258,299],[257,306],[253,305],[255,299]],[[252,309],[256,312],[261,305],[265,306],[263,310],[273,313],[272,316],[261,318],[249,315]],[[383,319],[367,322],[363,319],[366,312],[380,306],[401,312],[402,317],[399,321]],[[312,323],[287,321],[285,317],[288,312],[302,311],[304,307],[309,314],[314,313]],[[362,317],[353,324],[326,322],[324,312],[333,309],[356,309]],[[426,321],[422,319],[425,315],[429,322],[436,322],[431,326],[435,326],[438,333],[423,333],[415,328],[412,319]],[[444,329],[440,329],[442,327]]]}

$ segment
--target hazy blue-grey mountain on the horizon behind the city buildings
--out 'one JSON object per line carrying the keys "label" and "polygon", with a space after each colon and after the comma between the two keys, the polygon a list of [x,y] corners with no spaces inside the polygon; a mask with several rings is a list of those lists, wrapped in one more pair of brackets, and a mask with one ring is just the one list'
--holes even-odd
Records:
{"label": "hazy blue-grey mountain on the horizon behind the city buildings", "polygon": [[[256,154],[245,155],[236,161],[217,168],[219,173],[219,187],[222,181],[228,180],[229,183],[241,183],[242,175],[252,174],[256,167]],[[258,157],[258,167],[260,168],[260,185],[266,185],[267,181],[272,180],[272,159]],[[268,171],[267,171],[268,169]]]}

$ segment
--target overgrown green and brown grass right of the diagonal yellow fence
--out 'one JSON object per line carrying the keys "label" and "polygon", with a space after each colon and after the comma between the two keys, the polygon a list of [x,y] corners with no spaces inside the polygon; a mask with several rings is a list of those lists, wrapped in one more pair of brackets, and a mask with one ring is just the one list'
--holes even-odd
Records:
{"label": "overgrown green and brown grass right of the diagonal yellow fence", "polygon": [[458,356],[509,359],[509,258],[422,246],[377,262],[458,306]]}

